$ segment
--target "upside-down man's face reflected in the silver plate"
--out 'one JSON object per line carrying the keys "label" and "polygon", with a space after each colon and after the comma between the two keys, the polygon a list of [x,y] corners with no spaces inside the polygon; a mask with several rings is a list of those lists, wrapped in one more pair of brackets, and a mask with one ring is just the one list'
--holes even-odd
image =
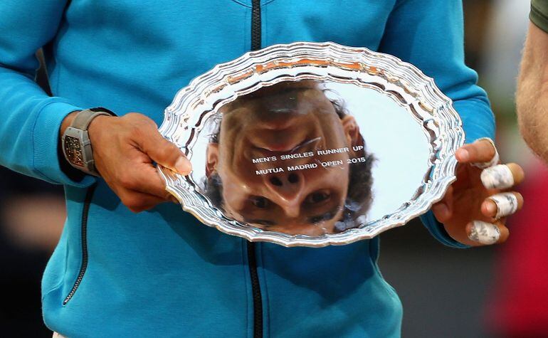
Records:
{"label": "upside-down man's face reflected in the silver plate", "polygon": [[354,118],[339,117],[314,83],[253,94],[221,108],[218,143],[208,147],[206,171],[223,182],[223,210],[291,235],[333,233],[347,198],[347,159],[356,156]]}

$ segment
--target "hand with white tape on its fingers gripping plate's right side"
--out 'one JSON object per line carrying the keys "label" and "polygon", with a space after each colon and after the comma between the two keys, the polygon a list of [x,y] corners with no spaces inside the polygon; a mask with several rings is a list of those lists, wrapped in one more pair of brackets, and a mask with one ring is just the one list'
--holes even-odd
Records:
{"label": "hand with white tape on its fingers gripping plate's right side", "polygon": [[498,164],[480,169],[490,162],[496,149],[488,139],[466,144],[455,152],[457,180],[446,196],[432,208],[449,236],[467,245],[502,243],[508,238],[506,217],[523,205],[523,197],[511,191],[524,173],[517,164]]}

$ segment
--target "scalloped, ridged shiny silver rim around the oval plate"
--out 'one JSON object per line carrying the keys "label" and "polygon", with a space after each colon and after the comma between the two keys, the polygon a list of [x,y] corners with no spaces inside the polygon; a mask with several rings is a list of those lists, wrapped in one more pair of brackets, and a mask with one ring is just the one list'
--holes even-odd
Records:
{"label": "scalloped, ridged shiny silver rim around the oval plate", "polygon": [[[311,69],[315,70],[314,73],[310,72]],[[269,78],[272,76],[274,77]],[[267,241],[288,247],[322,247],[353,243],[373,238],[389,228],[402,226],[411,218],[426,213],[455,181],[457,162],[454,153],[464,144],[462,121],[453,109],[452,101],[441,93],[432,78],[428,78],[410,63],[388,54],[332,42],[280,44],[246,53],[236,60],[216,65],[179,90],[172,104],[164,112],[164,122],[159,127],[159,132],[191,156],[191,147],[196,142],[199,130],[204,126],[201,122],[214,114],[217,107],[238,96],[286,80],[314,79],[359,83],[359,78],[372,77],[378,79],[375,85],[383,83],[383,89],[393,88],[396,93],[402,95],[401,100],[414,108],[412,115],[423,125],[423,132],[430,134],[430,169],[426,175],[429,178],[425,176],[419,189],[422,191],[418,191],[413,199],[402,204],[394,213],[342,233],[316,237],[292,236],[262,230],[227,218],[222,211],[211,205],[209,199],[196,191],[194,182],[189,177],[159,167],[167,191],[179,200],[184,211],[192,213],[207,226],[246,238],[248,241]],[[365,83],[372,84],[368,81]],[[237,88],[237,85],[242,85],[243,88],[233,92],[229,98],[214,100],[215,95],[220,97],[219,93],[223,93],[223,90]],[[400,92],[397,91],[398,88]],[[395,97],[394,94],[392,97]],[[405,97],[410,97],[411,102]],[[207,106],[206,103],[211,101],[214,103]],[[207,109],[204,109],[204,106]],[[196,107],[201,109],[198,110]],[[411,111],[410,109],[408,111]],[[196,120],[198,113],[198,121],[193,124],[192,119]],[[194,127],[196,125],[199,127]]]}

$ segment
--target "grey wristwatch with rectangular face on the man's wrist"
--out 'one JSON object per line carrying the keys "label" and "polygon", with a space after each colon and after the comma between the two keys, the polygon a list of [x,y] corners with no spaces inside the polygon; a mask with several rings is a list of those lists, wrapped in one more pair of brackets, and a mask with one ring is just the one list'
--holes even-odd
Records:
{"label": "grey wristwatch with rectangular face on the man's wrist", "polygon": [[63,132],[62,137],[63,154],[68,163],[76,169],[94,176],[100,175],[95,170],[88,127],[91,121],[100,115],[116,116],[115,113],[103,107],[82,110],[76,114],[70,127],[67,127]]}

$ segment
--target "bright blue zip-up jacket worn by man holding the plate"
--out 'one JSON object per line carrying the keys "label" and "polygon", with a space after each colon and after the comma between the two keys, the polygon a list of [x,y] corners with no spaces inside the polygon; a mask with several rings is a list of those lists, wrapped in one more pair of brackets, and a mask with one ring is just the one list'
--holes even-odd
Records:
{"label": "bright blue zip-up jacket worn by man holding the plate", "polygon": [[[255,2],[255,1],[253,1]],[[258,21],[260,19],[260,22]],[[65,186],[68,217],[43,276],[48,327],[69,337],[398,337],[401,302],[379,240],[248,245],[174,204],[130,212],[102,179],[60,169],[63,117],[164,107],[196,75],[251,48],[252,0],[0,1],[0,164]],[[261,0],[262,46],[334,41],[391,53],[455,101],[467,141],[494,121],[463,60],[457,0]],[[48,97],[33,83],[44,46]],[[431,213],[424,223],[447,245]],[[252,248],[248,252],[248,248]]]}

